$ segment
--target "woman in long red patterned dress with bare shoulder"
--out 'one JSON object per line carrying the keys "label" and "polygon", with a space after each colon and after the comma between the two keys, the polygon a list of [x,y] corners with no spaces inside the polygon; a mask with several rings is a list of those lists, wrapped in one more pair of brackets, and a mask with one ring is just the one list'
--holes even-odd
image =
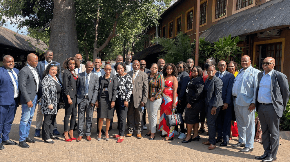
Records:
{"label": "woman in long red patterned dress with bare shoulder", "polygon": [[160,124],[159,130],[162,131],[160,137],[162,140],[173,140],[174,137],[174,126],[168,127],[166,125],[166,115],[171,115],[175,113],[175,108],[178,103],[177,97],[177,87],[178,87],[178,72],[174,64],[167,63],[164,66],[166,71],[162,71],[164,76],[164,85],[165,88],[162,93],[162,103],[160,106]]}

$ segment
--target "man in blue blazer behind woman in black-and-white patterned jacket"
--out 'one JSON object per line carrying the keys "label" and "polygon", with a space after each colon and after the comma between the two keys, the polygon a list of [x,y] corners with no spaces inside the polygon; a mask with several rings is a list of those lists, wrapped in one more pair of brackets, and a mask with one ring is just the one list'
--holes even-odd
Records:
{"label": "man in blue blazer behind woman in black-and-white patterned jacket", "polygon": [[[39,61],[36,67],[37,73],[39,75],[40,80],[42,81],[42,76],[44,73],[44,70],[46,69],[47,65],[52,62],[53,59],[53,51],[52,50],[47,50],[44,54],[45,60],[44,61]],[[60,67],[60,63],[56,62]],[[59,75],[59,80],[62,80],[61,75]],[[40,111],[41,109],[41,103],[38,104],[37,106],[37,113],[36,113],[36,124],[35,124],[35,134],[34,137],[40,137],[40,128],[42,126],[42,121],[43,121],[43,114]],[[54,121],[54,129],[53,133],[55,135],[59,135],[59,131],[57,130],[57,124],[56,124],[56,118]]]}

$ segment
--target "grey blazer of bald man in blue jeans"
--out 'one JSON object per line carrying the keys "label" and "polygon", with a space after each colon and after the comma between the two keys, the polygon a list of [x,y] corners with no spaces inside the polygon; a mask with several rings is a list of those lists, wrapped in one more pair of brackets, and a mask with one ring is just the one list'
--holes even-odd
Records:
{"label": "grey blazer of bald man in blue jeans", "polygon": [[32,102],[36,94],[37,100],[39,100],[39,98],[41,97],[41,80],[39,76],[38,76],[39,81],[38,92],[35,77],[27,65],[19,71],[18,78],[19,78],[19,89],[21,91],[20,103],[27,104],[27,102],[29,101]]}

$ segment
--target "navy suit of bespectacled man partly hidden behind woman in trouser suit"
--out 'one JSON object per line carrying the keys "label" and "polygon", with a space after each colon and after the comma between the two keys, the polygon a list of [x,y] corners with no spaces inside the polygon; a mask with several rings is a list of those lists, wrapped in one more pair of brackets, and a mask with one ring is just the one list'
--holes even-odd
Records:
{"label": "navy suit of bespectacled man partly hidden behind woman in trouser suit", "polygon": [[[220,72],[215,73],[216,77],[219,77]],[[225,71],[222,76],[222,101],[229,104],[228,108],[225,110],[220,109],[218,118],[216,120],[218,138],[223,139],[223,141],[229,141],[230,131],[231,131],[231,118],[233,110],[233,97],[232,89],[235,76],[228,71]],[[223,106],[222,106],[223,107]]]}

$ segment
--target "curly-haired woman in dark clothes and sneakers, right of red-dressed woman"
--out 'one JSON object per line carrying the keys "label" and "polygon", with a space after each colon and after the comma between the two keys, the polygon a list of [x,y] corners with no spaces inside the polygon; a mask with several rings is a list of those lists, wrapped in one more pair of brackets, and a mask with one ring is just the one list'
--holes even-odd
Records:
{"label": "curly-haired woman in dark clothes and sneakers, right of red-dressed woman", "polygon": [[[186,106],[186,86],[190,80],[189,78],[189,71],[188,67],[186,66],[185,62],[177,62],[176,68],[178,71],[178,87],[177,87],[177,95],[178,95],[178,104],[177,104],[177,112],[183,114],[185,106]],[[178,126],[175,126],[174,134],[178,134]],[[179,139],[185,138],[185,129],[184,124],[180,125],[180,135],[178,136]]]}

